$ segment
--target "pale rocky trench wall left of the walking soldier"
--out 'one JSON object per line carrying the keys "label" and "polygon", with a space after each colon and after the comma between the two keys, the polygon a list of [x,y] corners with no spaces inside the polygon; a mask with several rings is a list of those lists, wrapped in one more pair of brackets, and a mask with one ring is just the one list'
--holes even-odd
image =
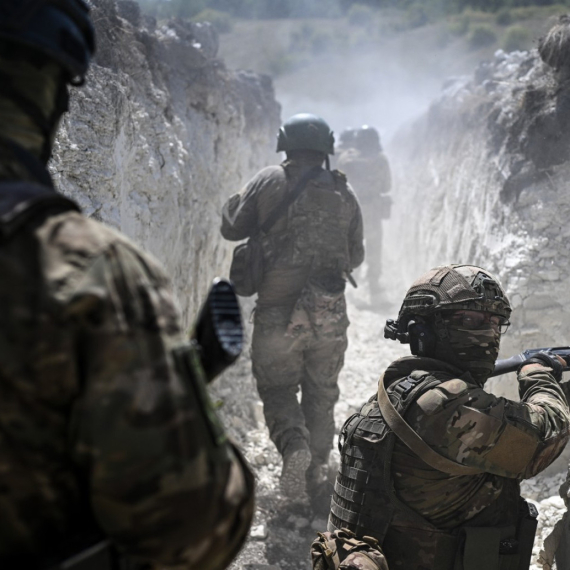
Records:
{"label": "pale rocky trench wall left of the walking soldier", "polygon": [[74,89],[50,169],[84,212],[154,254],[188,326],[232,246],[220,210],[276,161],[271,80],[226,70],[207,24],[158,25],[131,1],[92,0],[98,51]]}

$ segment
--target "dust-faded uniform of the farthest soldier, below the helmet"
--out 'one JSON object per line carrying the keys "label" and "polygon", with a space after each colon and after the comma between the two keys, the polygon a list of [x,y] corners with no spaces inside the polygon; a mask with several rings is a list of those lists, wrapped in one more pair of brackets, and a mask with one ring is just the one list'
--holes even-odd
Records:
{"label": "dust-faded uniform of the farthest soldier, below the helmet", "polygon": [[390,192],[392,179],[386,155],[379,151],[365,153],[355,148],[341,152],[338,168],[346,173],[351,185],[363,205],[364,237],[366,238],[367,279],[370,292],[379,291],[382,271],[382,223],[387,218],[385,195]]}

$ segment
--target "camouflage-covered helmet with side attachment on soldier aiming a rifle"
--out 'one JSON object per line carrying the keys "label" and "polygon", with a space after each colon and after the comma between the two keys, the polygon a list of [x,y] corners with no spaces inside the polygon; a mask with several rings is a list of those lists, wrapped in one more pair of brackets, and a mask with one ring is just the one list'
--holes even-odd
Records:
{"label": "camouflage-covered helmet with side attachment on soldier aiming a rifle", "polygon": [[474,265],[431,269],[408,289],[396,321],[389,319],[384,337],[410,342],[410,324],[442,311],[486,311],[508,319],[511,305],[499,281]]}

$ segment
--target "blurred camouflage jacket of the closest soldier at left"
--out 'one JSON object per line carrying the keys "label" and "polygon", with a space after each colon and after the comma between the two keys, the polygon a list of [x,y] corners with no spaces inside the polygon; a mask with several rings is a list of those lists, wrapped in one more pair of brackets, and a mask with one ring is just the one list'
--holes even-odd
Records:
{"label": "blurred camouflage jacket of the closest soldier at left", "polygon": [[2,239],[0,274],[3,567],[85,546],[92,520],[133,557],[225,568],[249,528],[252,476],[175,370],[184,335],[162,269],[65,211]]}

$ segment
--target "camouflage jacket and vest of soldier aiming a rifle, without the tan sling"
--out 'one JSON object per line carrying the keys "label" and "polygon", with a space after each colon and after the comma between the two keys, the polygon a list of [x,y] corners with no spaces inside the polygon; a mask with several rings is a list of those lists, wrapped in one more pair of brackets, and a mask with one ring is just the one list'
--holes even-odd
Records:
{"label": "camouflage jacket and vest of soldier aiming a rifle, without the tan sling", "polygon": [[570,412],[550,369],[519,374],[520,402],[493,396],[468,373],[430,358],[397,360],[384,382],[423,441],[473,473],[425,463],[387,427],[373,396],[342,429],[329,531],[373,536],[391,568],[418,570],[458,568],[467,528],[520,538],[519,481],[548,466],[568,441]]}

